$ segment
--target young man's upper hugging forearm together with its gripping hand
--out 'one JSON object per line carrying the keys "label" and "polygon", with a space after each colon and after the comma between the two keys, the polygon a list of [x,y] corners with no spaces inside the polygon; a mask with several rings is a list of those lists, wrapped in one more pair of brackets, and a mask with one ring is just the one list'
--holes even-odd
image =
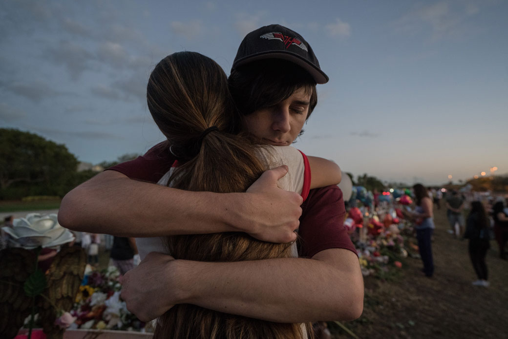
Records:
{"label": "young man's upper hugging forearm together with its gripping hand", "polygon": [[69,192],[58,222],[75,231],[126,237],[239,231],[273,242],[296,237],[302,197],[277,187],[287,167],[264,172],[247,193],[176,190],[105,171]]}

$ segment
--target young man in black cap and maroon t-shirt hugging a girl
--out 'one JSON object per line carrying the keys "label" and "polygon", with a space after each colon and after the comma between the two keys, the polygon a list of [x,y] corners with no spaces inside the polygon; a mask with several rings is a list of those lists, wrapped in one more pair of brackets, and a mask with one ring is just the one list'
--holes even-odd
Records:
{"label": "young man in black cap and maroon t-shirt hugging a girl", "polygon": [[[245,37],[230,76],[241,112],[252,119],[248,125],[273,145],[296,139],[317,103],[315,84],[327,81],[305,40],[280,25]],[[141,320],[175,303],[277,322],[360,316],[363,281],[342,226],[340,189],[311,190],[299,222],[302,198],[276,187],[283,168],[265,172],[247,193],[220,195],[129,179],[157,182],[172,164],[167,149],[159,144],[76,188],[62,201],[60,224],[138,237],[243,231],[274,242],[294,240],[300,225],[300,253],[306,258],[206,263],[151,253],[125,275],[122,296],[129,310]],[[130,213],[122,214],[125,210]],[[94,214],[87,217],[89,212]]]}

